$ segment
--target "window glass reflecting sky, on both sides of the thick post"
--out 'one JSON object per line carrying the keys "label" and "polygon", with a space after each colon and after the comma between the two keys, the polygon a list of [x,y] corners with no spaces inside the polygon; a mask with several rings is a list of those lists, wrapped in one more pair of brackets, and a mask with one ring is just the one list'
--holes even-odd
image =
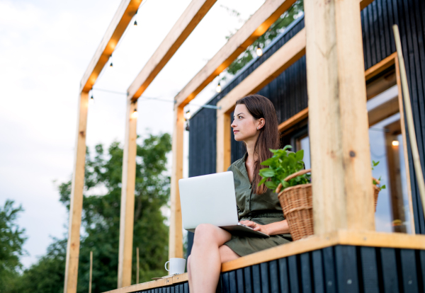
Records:
{"label": "window glass reflecting sky, on both sides of the thick post", "polygon": [[[379,161],[372,175],[382,189],[375,213],[376,231],[412,233],[406,162],[400,123],[398,89],[392,86],[368,100],[370,159]],[[293,136],[297,150],[304,149],[305,168],[310,168],[310,139]],[[372,164],[372,163],[370,163]]]}

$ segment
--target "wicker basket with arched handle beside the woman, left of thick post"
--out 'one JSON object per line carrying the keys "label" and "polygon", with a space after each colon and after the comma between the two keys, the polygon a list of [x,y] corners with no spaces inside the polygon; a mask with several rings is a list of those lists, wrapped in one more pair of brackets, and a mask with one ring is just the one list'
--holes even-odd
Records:
{"label": "wicker basket with arched handle beside the woman, left of thick post", "polygon": [[[285,178],[285,181],[309,172],[311,172],[311,169],[298,171]],[[280,189],[282,189],[282,184],[278,185],[276,193],[278,193],[285,219],[288,220],[293,240],[313,235],[312,184],[295,185],[285,188],[282,192],[280,192]]]}

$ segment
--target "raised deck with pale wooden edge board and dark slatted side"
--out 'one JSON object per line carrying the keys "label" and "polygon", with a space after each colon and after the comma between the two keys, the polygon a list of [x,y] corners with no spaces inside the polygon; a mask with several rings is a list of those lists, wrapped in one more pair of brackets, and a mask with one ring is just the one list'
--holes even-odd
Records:
{"label": "raised deck with pale wooden edge board and dark slatted side", "polygon": [[[425,236],[336,231],[222,265],[217,292],[424,292]],[[108,293],[189,292],[187,273]]]}

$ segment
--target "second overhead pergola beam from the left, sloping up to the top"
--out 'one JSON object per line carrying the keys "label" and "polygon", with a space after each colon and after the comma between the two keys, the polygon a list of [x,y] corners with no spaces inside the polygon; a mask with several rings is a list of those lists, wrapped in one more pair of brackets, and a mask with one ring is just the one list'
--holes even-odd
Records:
{"label": "second overhead pergola beam from the left, sloping up to the top", "polygon": [[205,14],[210,11],[212,5],[217,0],[193,0],[188,5],[186,10],[181,14],[179,20],[171,28],[168,35],[159,45],[152,57],[149,58],[145,67],[137,75],[135,80],[128,88],[128,98],[136,100],[146,90],[149,84],[159,74],[165,64],[169,62],[174,53],[179,50],[179,47],[188,38],[196,25],[200,23]]}

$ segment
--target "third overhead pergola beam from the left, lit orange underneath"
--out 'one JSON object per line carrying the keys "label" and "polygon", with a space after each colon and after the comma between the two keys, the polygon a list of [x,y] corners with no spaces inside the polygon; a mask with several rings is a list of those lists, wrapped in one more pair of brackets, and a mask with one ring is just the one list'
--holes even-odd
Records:
{"label": "third overhead pergola beam from the left, lit orange underneath", "polygon": [[215,77],[229,67],[259,36],[287,11],[296,0],[266,0],[251,18],[235,33],[220,51],[176,96],[177,105],[187,105]]}

